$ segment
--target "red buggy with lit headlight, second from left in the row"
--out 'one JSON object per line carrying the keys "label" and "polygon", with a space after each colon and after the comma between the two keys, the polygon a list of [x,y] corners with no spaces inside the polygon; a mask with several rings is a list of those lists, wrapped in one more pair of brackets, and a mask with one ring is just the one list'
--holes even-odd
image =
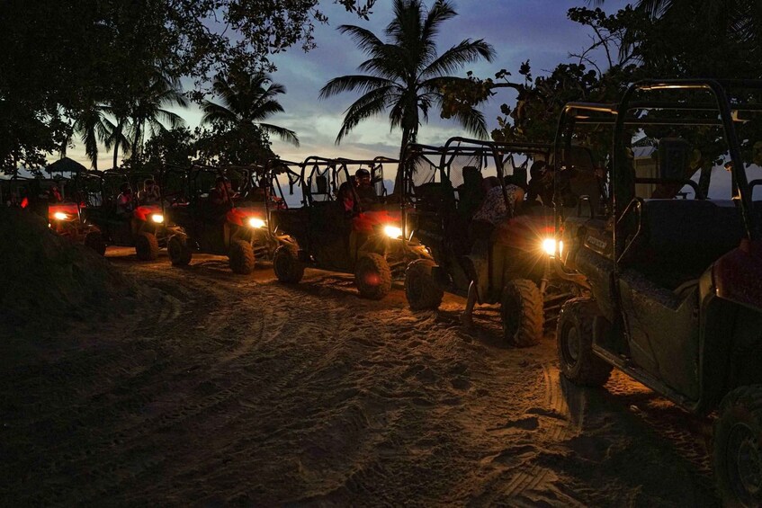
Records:
{"label": "red buggy with lit headlight, second from left in the row", "polygon": [[[80,217],[86,227],[85,245],[105,254],[107,245],[135,247],[140,261],[154,260],[173,228],[167,226],[160,202],[140,202],[140,183],[152,174],[119,170],[82,171],[76,175]],[[118,196],[129,188],[130,206],[120,209]]]}

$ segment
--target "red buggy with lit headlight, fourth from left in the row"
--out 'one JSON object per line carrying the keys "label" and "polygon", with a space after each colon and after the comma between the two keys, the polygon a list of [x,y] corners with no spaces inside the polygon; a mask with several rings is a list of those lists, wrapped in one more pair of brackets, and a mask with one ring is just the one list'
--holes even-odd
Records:
{"label": "red buggy with lit headlight, fourth from left in the row", "polygon": [[[403,235],[399,203],[386,202],[383,165],[396,162],[310,156],[300,165],[302,207],[273,211],[277,227],[292,238],[273,260],[280,281],[300,281],[305,265],[354,273],[363,298],[382,299],[409,262],[430,259],[417,239]],[[354,183],[361,168],[371,175],[375,202],[363,202]]]}

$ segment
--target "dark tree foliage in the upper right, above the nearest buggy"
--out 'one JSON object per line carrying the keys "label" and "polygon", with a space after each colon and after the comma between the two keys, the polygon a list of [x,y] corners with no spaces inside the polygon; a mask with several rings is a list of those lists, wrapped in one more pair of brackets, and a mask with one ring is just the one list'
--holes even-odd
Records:
{"label": "dark tree foliage in the upper right, above the nearest buggy", "polygon": [[[523,77],[519,81],[511,81],[505,69],[494,79],[468,75],[467,80],[444,89],[444,116],[475,107],[507,87],[515,90],[515,103],[501,106],[502,116],[492,137],[551,142],[565,103],[617,102],[626,87],[640,79],[762,78],[760,13],[758,3],[750,0],[641,0],[614,14],[575,7],[568,11],[569,20],[591,32],[593,42],[586,50],[569,55],[568,63],[543,76],[532,75],[529,60],[518,71]],[[752,121],[741,128],[747,151],[762,135],[757,125]],[[703,147],[703,153],[695,156],[697,165],[711,164],[726,149],[713,129],[677,133],[675,129],[649,128],[644,133],[652,138],[677,134],[689,138],[694,146]],[[610,142],[609,135],[607,129],[580,134],[601,146]]]}

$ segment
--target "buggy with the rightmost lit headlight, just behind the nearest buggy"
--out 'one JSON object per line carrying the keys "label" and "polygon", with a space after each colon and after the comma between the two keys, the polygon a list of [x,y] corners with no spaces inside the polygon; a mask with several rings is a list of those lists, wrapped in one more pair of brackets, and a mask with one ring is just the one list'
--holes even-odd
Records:
{"label": "buggy with the rightmost lit headlight, just behind the nearest buggy", "polygon": [[465,172],[478,174],[476,185],[482,177],[497,176],[507,200],[507,177],[526,183],[527,165],[549,162],[551,151],[550,145],[465,138],[451,138],[444,147],[408,147],[403,224],[406,234],[414,231],[433,255],[408,266],[405,292],[411,308],[439,307],[444,290],[466,296],[473,282],[478,303],[501,304],[508,343],[524,347],[542,338],[545,317],[553,319],[575,290],[551,270],[556,254],[552,209],[519,209],[515,218],[498,224],[489,240],[471,241]]}

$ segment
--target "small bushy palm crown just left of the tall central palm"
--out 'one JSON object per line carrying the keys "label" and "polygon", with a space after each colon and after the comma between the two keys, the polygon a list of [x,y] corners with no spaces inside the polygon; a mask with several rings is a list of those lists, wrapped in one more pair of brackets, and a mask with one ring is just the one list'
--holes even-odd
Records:
{"label": "small bushy palm crown just left of the tall central palm", "polygon": [[262,121],[283,111],[276,97],[286,93],[285,86],[273,83],[264,72],[248,75],[230,71],[228,76],[220,74],[214,78],[212,90],[220,98],[220,103],[202,102],[202,124],[220,123],[230,129],[242,130],[255,127],[299,147],[299,138],[293,130]]}

